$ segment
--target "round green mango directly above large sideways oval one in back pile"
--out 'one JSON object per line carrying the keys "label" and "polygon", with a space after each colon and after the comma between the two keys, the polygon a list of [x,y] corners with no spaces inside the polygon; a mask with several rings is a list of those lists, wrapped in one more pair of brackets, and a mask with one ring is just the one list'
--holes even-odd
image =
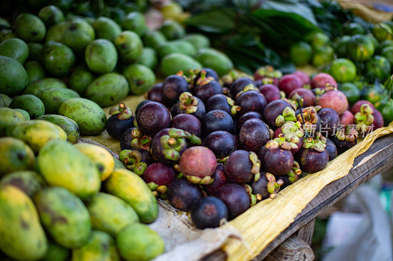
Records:
{"label": "round green mango directly above large sideways oval one in back pile", "polygon": [[90,71],[97,73],[111,72],[117,64],[116,47],[106,39],[94,40],[87,45],[84,60]]}

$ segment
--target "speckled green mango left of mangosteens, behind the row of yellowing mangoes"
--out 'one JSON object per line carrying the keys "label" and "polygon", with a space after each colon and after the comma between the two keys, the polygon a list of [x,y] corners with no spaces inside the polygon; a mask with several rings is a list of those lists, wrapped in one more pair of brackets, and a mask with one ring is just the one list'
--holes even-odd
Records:
{"label": "speckled green mango left of mangosteens, behind the row of yellowing mangoes", "polygon": [[58,114],[75,120],[84,135],[98,135],[105,130],[107,117],[104,110],[94,101],[71,98],[61,103]]}

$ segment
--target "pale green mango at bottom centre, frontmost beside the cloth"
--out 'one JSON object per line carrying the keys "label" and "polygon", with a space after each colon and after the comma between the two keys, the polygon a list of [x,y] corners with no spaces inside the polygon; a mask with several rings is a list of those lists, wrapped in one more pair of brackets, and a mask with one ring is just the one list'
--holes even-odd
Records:
{"label": "pale green mango at bottom centre, frontmost beside the cloth", "polygon": [[144,224],[125,227],[116,237],[117,249],[127,261],[147,261],[164,253],[163,239]]}

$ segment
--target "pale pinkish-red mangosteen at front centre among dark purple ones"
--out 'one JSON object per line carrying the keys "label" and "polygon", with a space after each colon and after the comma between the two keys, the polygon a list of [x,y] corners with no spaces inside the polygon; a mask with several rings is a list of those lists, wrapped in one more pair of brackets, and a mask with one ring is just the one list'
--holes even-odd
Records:
{"label": "pale pinkish-red mangosteen at front centre among dark purple ones", "polygon": [[203,146],[186,149],[180,156],[179,167],[183,175],[194,184],[210,184],[217,160],[213,151]]}

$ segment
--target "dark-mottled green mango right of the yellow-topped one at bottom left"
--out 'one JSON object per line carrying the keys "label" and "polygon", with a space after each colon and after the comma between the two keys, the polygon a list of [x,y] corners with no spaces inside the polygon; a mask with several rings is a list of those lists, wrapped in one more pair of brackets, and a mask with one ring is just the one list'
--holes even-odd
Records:
{"label": "dark-mottled green mango right of the yellow-topped one at bottom left", "polygon": [[82,200],[60,187],[45,188],[33,197],[46,232],[61,246],[77,248],[90,236],[89,213]]}

